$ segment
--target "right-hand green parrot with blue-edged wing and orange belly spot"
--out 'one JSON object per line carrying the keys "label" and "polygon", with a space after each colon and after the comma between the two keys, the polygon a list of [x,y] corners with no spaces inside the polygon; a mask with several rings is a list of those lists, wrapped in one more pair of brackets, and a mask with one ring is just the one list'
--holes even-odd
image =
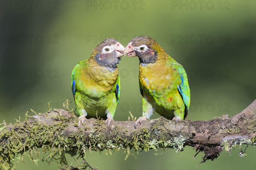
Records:
{"label": "right-hand green parrot with blue-edged wing and orange belly spot", "polygon": [[132,39],[124,55],[139,57],[140,93],[143,116],[137,124],[148,120],[154,111],[175,122],[186,118],[190,105],[190,89],[186,71],[151,37]]}

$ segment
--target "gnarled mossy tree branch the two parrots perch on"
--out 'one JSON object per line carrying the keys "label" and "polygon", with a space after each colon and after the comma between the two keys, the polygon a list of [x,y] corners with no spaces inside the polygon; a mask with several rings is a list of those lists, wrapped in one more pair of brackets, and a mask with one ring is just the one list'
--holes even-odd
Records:
{"label": "gnarled mossy tree branch the two parrots perch on", "polygon": [[188,145],[197,153],[205,153],[204,162],[217,158],[223,150],[230,152],[236,144],[256,146],[256,100],[231,118],[223,115],[207,121],[175,123],[160,117],[143,122],[137,129],[134,121],[114,121],[110,129],[103,120],[87,119],[80,129],[77,122],[74,113],[60,109],[6,125],[0,132],[1,168],[10,166],[15,156],[28,150],[33,161],[36,148],[50,152],[49,157],[63,153],[84,157],[87,150],[126,149],[128,156],[132,148],[138,153],[157,148],[183,150]]}

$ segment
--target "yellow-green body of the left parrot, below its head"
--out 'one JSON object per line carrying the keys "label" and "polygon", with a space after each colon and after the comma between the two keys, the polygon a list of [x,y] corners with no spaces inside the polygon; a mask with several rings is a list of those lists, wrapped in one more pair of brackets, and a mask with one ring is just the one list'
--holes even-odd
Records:
{"label": "yellow-green body of the left parrot, below its head", "polygon": [[111,113],[116,110],[119,97],[116,96],[116,88],[119,87],[118,68],[106,68],[94,61],[84,60],[74,68],[72,82],[80,116],[84,114],[83,109],[88,118],[105,118],[107,109]]}

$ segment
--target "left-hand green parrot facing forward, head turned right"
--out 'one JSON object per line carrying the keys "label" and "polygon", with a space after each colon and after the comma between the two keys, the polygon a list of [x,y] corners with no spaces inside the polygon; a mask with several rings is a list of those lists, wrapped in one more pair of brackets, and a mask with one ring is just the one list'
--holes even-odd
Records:
{"label": "left-hand green parrot facing forward, head turned right", "polygon": [[71,75],[71,88],[79,113],[78,126],[86,118],[113,121],[120,96],[117,64],[124,46],[109,38],[94,48],[89,59],[79,62]]}

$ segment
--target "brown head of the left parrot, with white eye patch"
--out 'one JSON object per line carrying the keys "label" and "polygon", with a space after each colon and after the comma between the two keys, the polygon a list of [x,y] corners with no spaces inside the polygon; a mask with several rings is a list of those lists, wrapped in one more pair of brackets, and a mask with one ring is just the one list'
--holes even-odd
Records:
{"label": "brown head of the left parrot, with white eye patch", "polygon": [[94,48],[92,57],[101,66],[116,68],[124,49],[125,47],[120,42],[108,38]]}

